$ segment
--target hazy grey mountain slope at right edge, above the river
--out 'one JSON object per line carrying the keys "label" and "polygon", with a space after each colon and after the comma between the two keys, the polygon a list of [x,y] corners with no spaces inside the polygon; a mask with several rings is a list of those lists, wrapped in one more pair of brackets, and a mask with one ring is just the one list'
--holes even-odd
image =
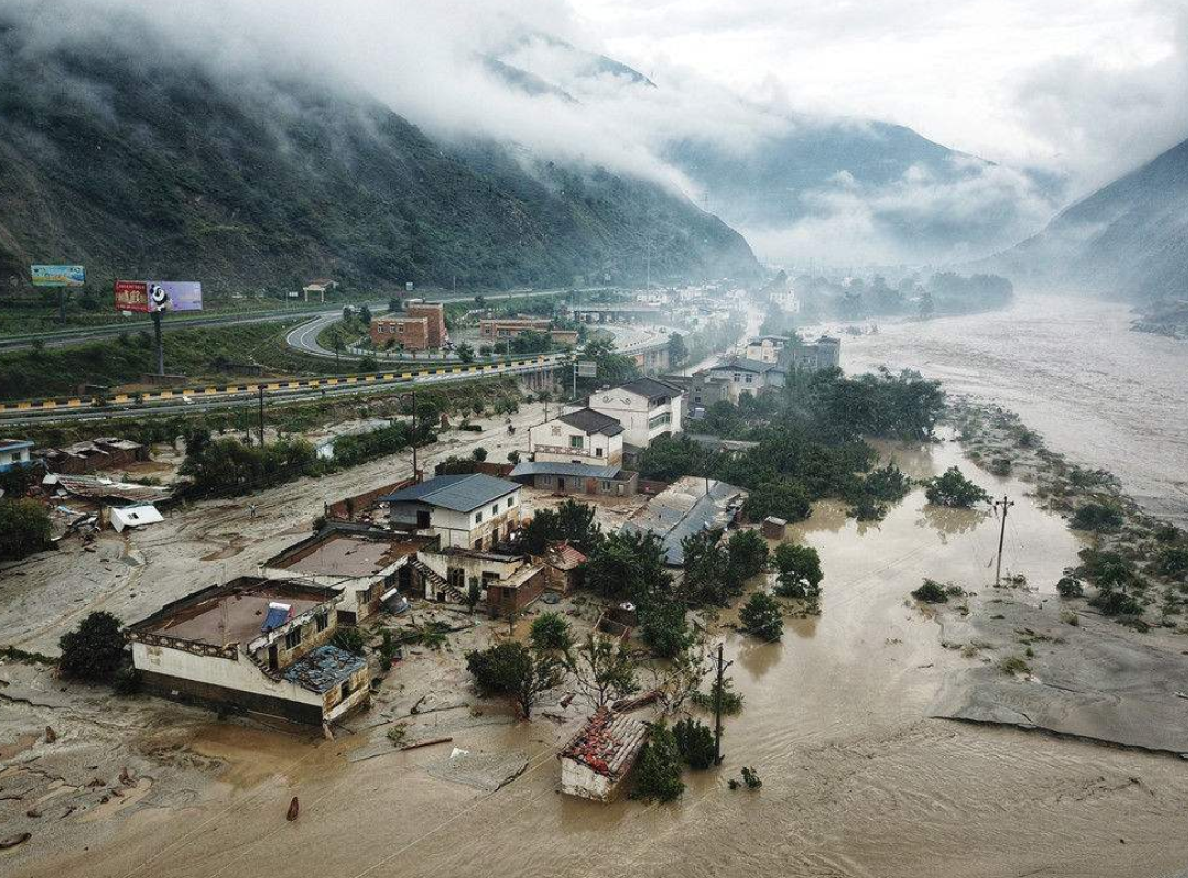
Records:
{"label": "hazy grey mountain slope at right edge, above the river", "polygon": [[993,263],[1013,277],[1139,298],[1188,290],[1188,140],[1061,213]]}

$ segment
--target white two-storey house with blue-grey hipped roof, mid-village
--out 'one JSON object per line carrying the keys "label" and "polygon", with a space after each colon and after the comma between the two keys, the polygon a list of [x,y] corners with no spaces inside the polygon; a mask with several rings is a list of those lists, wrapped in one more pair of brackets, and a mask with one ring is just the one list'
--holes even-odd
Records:
{"label": "white two-storey house with blue-grey hipped roof, mid-village", "polygon": [[489,549],[519,528],[520,485],[482,473],[438,475],[380,498],[403,531],[443,549]]}

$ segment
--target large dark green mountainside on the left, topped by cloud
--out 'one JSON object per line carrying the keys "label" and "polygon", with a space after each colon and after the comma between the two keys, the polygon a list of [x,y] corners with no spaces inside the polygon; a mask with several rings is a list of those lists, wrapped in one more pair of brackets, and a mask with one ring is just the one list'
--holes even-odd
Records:
{"label": "large dark green mountainside on the left, topped by cloud", "polygon": [[481,139],[446,145],[366,94],[215,75],[81,44],[42,51],[0,17],[0,290],[30,263],[88,278],[310,277],[394,289],[757,271],[687,198]]}

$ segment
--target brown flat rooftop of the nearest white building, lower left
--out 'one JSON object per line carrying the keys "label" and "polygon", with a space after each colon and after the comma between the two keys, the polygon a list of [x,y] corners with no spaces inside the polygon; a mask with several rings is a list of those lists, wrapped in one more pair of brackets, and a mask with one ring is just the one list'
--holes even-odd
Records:
{"label": "brown flat rooftop of the nearest white building, lower left", "polygon": [[272,602],[287,604],[293,618],[336,598],[328,588],[244,576],[169,604],[128,630],[223,649],[236,643],[246,645],[260,637],[260,625]]}

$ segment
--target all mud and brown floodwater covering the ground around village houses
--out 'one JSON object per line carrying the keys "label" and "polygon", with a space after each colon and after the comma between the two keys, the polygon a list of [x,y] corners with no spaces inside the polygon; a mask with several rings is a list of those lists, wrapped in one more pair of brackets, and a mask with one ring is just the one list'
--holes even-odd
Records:
{"label": "all mud and brown floodwater covering the ground around village houses", "polygon": [[[500,432],[487,438],[497,443]],[[986,442],[974,448],[979,460]],[[10,768],[0,775],[0,821],[6,832],[10,821],[13,830],[33,826],[29,841],[0,853],[0,864],[13,874],[55,878],[206,878],[261,868],[348,878],[688,877],[740,870],[1112,878],[1183,870],[1188,840],[1178,827],[1188,808],[1188,765],[1082,738],[1105,738],[1100,732],[1108,728],[1152,740],[1162,735],[1159,748],[1176,750],[1176,735],[1188,727],[1175,721],[1188,705],[1176,694],[1182,667],[1176,662],[1188,640],[1175,627],[1139,633],[1092,615],[1085,601],[1069,605],[1056,596],[1054,583],[1076,562],[1086,538],[1044,509],[1047,498],[1029,495],[1036,482],[1023,462],[992,475],[977,469],[953,437],[881,450],[915,478],[960,465],[992,493],[1011,495],[1004,571],[1012,587],[993,585],[999,522],[990,512],[939,510],[922,489],[880,523],[857,523],[842,506],[819,504],[789,538],[821,552],[821,614],[789,618],[777,643],[715,630],[745,709],[728,720],[726,763],[687,772],[688,789],[676,803],[598,806],[558,795],[556,750],[580,722],[579,707],[562,708],[558,693],[557,702],[542,705],[525,722],[501,702],[478,699],[462,656],[506,636],[506,623],[473,625],[463,612],[418,607],[416,613],[434,613],[459,630],[441,652],[410,650],[380,684],[373,708],[333,741],[219,721],[153,699],[63,690],[44,669],[0,665],[0,678],[8,681],[0,687],[6,699],[0,744],[18,751],[5,752]],[[492,450],[489,459],[501,456]],[[335,476],[346,482],[334,487],[335,495],[392,475],[380,466],[371,469]],[[321,482],[278,488],[253,501],[254,522],[238,505],[211,505],[185,526],[172,524],[176,545],[162,533],[154,537],[160,544],[143,547],[151,557],[141,566],[135,598],[113,585],[110,593],[83,589],[82,602],[102,599],[105,606],[139,612],[176,596],[158,593],[157,575],[164,590],[181,587],[190,564],[203,576],[195,582],[191,574],[189,590],[206,585],[222,563],[228,576],[251,571],[260,557],[304,532],[321,509]],[[137,538],[150,536],[146,530]],[[175,554],[183,557],[171,560]],[[227,557],[200,560],[219,554]],[[113,568],[113,580],[131,576],[118,567],[126,564],[121,554],[106,564],[97,552],[88,556],[84,569],[95,576],[105,566]],[[158,562],[163,573],[150,580]],[[30,644],[51,649],[57,633],[86,611],[55,619],[74,605],[67,589],[53,590],[55,575],[69,579],[69,568],[37,569],[45,563],[32,566],[23,588],[29,606],[42,589],[57,601],[26,633]],[[925,576],[962,594],[940,608],[922,607],[909,593]],[[7,582],[2,594],[0,624],[19,621]],[[562,609],[574,611],[579,626],[596,612],[573,604]],[[1069,611],[1079,625],[1066,620]],[[731,617],[723,613],[721,621]],[[1028,672],[1005,672],[1004,659],[1012,657]],[[937,718],[978,706],[1023,728]],[[44,740],[46,724],[57,741]],[[453,740],[400,752],[387,732],[402,724],[404,740]],[[498,758],[451,770],[443,763],[453,747]],[[125,765],[131,784],[120,779]],[[728,788],[744,765],[758,770],[762,789]],[[42,816],[26,816],[23,790],[36,788],[36,802],[58,778],[70,788],[57,794],[61,801],[51,797],[46,803],[53,806],[42,807]],[[94,778],[103,785],[88,788]],[[23,798],[4,801],[10,791]],[[301,816],[289,822],[295,795]],[[135,801],[110,807],[128,798]],[[75,802],[80,807],[68,814]]]}

